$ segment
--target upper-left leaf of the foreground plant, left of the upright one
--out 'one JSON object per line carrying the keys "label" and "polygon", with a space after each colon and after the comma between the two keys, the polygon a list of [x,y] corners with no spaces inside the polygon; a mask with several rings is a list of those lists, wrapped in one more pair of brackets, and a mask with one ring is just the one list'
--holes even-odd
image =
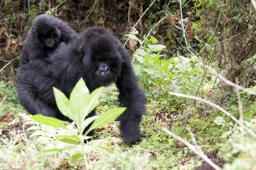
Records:
{"label": "upper-left leaf of the foreground plant, left of the upright one", "polygon": [[59,89],[53,87],[53,92],[56,100],[56,104],[60,110],[60,112],[70,118],[71,120],[75,121],[73,114],[71,113],[71,106],[70,101],[65,96],[64,93],[62,93]]}

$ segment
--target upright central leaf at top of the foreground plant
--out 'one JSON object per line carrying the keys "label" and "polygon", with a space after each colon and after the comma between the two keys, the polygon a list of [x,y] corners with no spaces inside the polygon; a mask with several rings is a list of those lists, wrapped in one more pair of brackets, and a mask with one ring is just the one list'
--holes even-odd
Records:
{"label": "upright central leaf at top of the foreground plant", "polygon": [[76,123],[81,126],[83,116],[87,110],[87,103],[90,102],[90,92],[85,85],[83,78],[80,78],[70,94],[70,106],[73,114],[76,115]]}

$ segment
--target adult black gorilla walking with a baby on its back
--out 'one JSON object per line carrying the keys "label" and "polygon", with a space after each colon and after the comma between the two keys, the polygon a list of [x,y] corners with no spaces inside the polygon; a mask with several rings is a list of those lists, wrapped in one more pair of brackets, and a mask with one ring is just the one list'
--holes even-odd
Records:
{"label": "adult black gorilla walking with a baby on its back", "polygon": [[[69,97],[81,77],[90,92],[116,83],[120,105],[127,107],[117,119],[121,122],[121,137],[125,142],[136,141],[145,113],[145,94],[138,86],[127,51],[102,27],[88,28],[69,44],[61,42],[48,58],[33,59],[28,69],[19,68],[17,92],[20,103],[31,114],[68,120],[56,106],[52,87]],[[89,117],[94,114],[92,111]]]}

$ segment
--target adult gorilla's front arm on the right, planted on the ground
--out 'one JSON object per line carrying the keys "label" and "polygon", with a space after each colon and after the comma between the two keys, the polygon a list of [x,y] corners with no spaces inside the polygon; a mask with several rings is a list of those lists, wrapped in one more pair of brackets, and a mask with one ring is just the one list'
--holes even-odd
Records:
{"label": "adult gorilla's front arm on the right, planted on the ground", "polygon": [[121,137],[125,142],[131,143],[135,142],[141,134],[140,122],[145,113],[146,97],[138,86],[127,51],[120,48],[119,52],[124,63],[122,64],[121,76],[117,79],[116,85],[120,91],[120,105],[127,107],[127,109],[117,120],[121,122]]}

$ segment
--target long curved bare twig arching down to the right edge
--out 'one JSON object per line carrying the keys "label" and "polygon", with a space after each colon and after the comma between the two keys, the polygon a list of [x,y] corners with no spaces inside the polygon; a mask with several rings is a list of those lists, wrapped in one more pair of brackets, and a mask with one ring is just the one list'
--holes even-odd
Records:
{"label": "long curved bare twig arching down to the right edge", "polygon": [[232,120],[234,120],[235,122],[237,122],[237,124],[239,124],[239,126],[241,126],[242,128],[244,128],[248,133],[250,133],[252,136],[254,136],[256,138],[256,134],[254,132],[252,132],[250,129],[248,129],[243,123],[241,123],[239,120],[237,120],[232,114],[230,114],[229,112],[227,112],[225,109],[223,109],[222,107],[199,97],[196,96],[191,96],[191,95],[186,95],[186,94],[180,94],[180,93],[175,93],[175,92],[168,92],[170,95],[175,95],[175,96],[180,96],[180,97],[187,97],[190,99],[196,99],[199,100],[201,102],[207,103],[208,105],[211,105],[217,109],[219,109],[220,111],[222,111],[223,113],[225,113],[226,115],[228,115]]}

